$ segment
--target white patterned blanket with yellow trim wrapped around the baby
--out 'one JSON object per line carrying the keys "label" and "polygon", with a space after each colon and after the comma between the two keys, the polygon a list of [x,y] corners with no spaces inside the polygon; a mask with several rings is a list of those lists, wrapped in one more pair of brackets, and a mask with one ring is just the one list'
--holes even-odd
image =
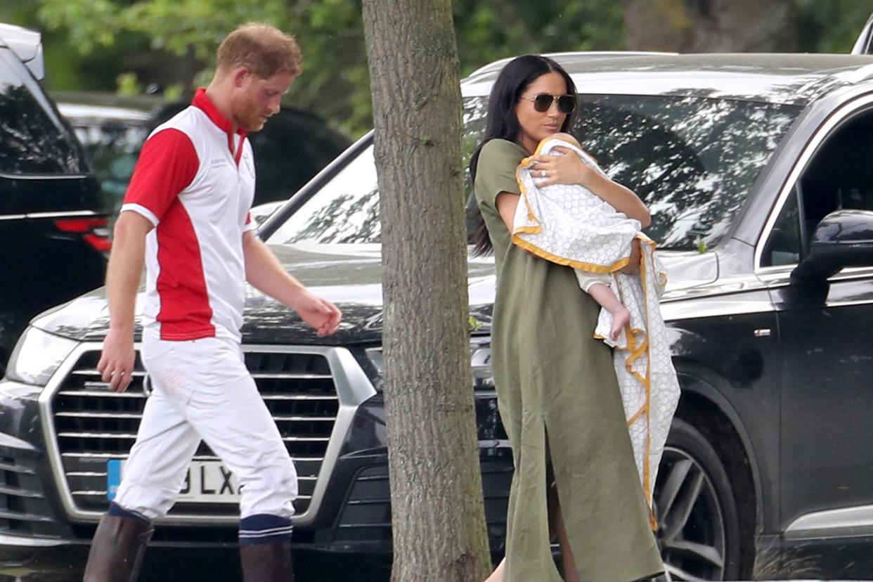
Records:
{"label": "white patterned blanket with yellow trim wrapped around the baby", "polygon": [[[574,144],[545,140],[537,154],[555,154],[561,146],[579,154],[602,174],[595,161]],[[628,430],[643,490],[651,504],[658,463],[679,399],[679,384],[670,359],[659,299],[667,282],[655,243],[640,232],[640,223],[578,185],[540,188],[533,161],[522,160],[516,175],[522,200],[516,209],[512,242],[553,263],[595,273],[610,273],[612,289],[630,311],[630,323],[608,340],[611,314],[601,309],[595,336],[615,348],[615,374],[622,391]],[[642,259],[635,275],[619,273],[629,262],[631,241],[640,241]],[[651,506],[651,505],[650,505]]]}

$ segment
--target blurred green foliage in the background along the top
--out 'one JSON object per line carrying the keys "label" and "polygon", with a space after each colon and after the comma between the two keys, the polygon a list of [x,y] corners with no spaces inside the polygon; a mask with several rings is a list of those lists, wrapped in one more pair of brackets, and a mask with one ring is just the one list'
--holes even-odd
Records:
{"label": "blurred green foliage in the background along the top", "polygon": [[[848,52],[873,0],[796,0],[798,47]],[[526,52],[624,48],[615,0],[455,0],[460,73]],[[190,92],[223,35],[249,20],[297,35],[305,68],[288,102],[351,137],[372,127],[360,0],[3,0],[0,21],[43,31],[52,90]],[[134,72],[135,76],[124,73]]]}

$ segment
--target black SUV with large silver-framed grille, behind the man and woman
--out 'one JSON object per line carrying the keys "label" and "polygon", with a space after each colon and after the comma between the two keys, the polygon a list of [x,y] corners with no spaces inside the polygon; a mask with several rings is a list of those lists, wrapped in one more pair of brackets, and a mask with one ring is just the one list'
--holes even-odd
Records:
{"label": "black SUV with large silver-framed grille, behind the man and woman", "polygon": [[[670,273],[662,309],[683,395],[655,502],[672,579],[873,577],[873,57],[555,58],[583,91],[574,133],[647,202]],[[462,84],[468,151],[504,64]],[[378,216],[368,135],[261,229],[345,312],[340,332],[319,339],[258,291],[246,298],[247,363],[299,470],[298,551],[391,551]],[[490,373],[494,272],[469,264],[471,389],[498,556],[512,456]],[[134,441],[141,381],[110,393],[94,369],[107,321],[102,291],[46,312],[0,382],[9,572],[81,572],[117,483],[107,468]],[[167,572],[167,559],[235,555],[216,551],[235,544],[237,508],[215,464],[197,453],[144,576]]]}

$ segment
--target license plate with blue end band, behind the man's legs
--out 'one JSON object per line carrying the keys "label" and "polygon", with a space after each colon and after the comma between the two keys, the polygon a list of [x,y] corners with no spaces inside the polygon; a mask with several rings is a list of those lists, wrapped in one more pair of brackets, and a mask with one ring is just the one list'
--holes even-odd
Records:
{"label": "license plate with blue end band, behind the man's legs", "polygon": [[[121,476],[124,462],[113,459],[107,462],[107,497],[112,500]],[[177,502],[238,503],[239,483],[237,476],[224,467],[221,461],[191,461]]]}

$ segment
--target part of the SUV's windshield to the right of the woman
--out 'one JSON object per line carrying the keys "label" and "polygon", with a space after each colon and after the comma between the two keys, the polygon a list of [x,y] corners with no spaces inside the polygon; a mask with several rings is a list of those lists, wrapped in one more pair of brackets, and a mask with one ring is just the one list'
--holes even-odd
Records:
{"label": "part of the SUV's windshield to the right of the woman", "polygon": [[583,95],[574,132],[649,207],[662,248],[714,246],[800,107],[737,99]]}

